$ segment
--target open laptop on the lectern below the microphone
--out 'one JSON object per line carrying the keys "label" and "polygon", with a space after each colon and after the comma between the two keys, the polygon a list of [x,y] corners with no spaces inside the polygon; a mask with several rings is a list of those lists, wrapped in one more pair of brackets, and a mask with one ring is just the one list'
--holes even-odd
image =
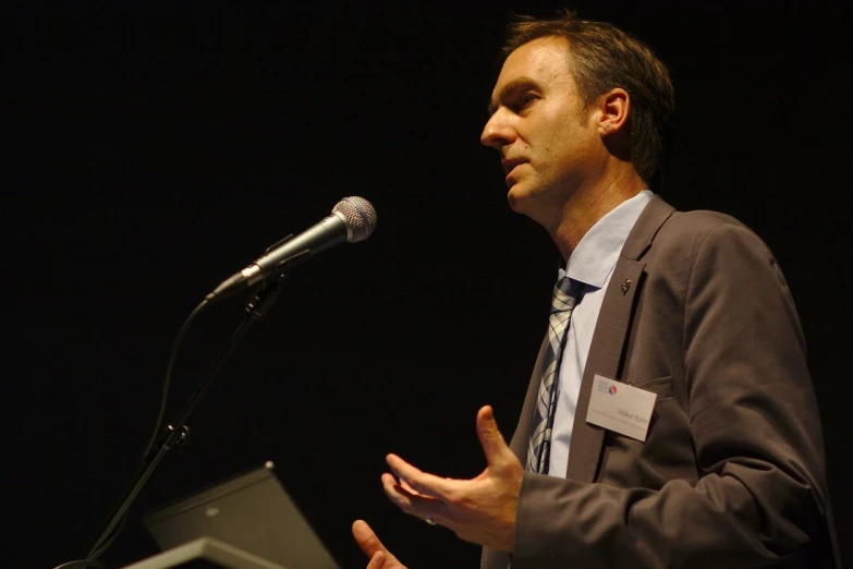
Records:
{"label": "open laptop on the lectern below the microphone", "polygon": [[272,462],[149,510],[143,523],[163,550],[212,556],[235,549],[272,568],[340,569],[276,477]]}

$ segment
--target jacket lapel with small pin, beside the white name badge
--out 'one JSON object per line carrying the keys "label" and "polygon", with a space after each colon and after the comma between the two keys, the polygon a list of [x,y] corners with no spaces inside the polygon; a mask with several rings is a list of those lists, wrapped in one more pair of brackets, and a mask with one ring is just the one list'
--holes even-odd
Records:
{"label": "jacket lapel with small pin, beside the white name badge", "polygon": [[651,245],[658,229],[672,211],[672,206],[659,197],[654,197],[631,230],[613,267],[581,380],[572,443],[569,447],[566,479],[578,482],[595,481],[605,432],[601,427],[586,422],[593,380],[596,374],[621,380],[622,358],[634,313],[634,301],[643,284],[645,263],[638,259]]}

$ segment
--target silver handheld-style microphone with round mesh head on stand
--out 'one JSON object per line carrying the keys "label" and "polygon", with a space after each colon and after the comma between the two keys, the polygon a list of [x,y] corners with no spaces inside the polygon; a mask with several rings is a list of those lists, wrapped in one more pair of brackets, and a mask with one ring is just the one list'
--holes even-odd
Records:
{"label": "silver handheld-style microphone with round mesh head on stand", "polygon": [[296,237],[288,235],[246,266],[223,280],[205,300],[211,302],[260,282],[270,275],[280,275],[332,245],[346,241],[364,241],[376,229],[376,209],[363,197],[344,197],[330,216]]}

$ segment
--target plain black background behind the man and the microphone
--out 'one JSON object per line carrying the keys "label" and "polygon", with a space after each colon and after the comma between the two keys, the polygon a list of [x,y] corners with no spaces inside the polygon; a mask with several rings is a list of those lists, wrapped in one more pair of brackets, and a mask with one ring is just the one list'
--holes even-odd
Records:
{"label": "plain black background behind the man and the microphone", "polygon": [[[139,460],[184,317],[266,245],[361,195],[379,214],[376,233],[291,275],[193,415],[192,445],[167,456],[103,559],[156,553],[139,521],[148,508],[272,460],[344,567],[365,565],[356,518],[415,568],[476,567],[478,547],[399,512],[379,475],[389,451],[477,474],[484,403],[507,436],[514,427],[557,255],[509,210],[497,155],[478,137],[509,14],[558,5],[4,10],[0,566],[86,553]],[[849,3],[568,5],[634,33],[670,65],[678,114],[662,195],[740,218],[785,270],[846,548]],[[192,328],[167,419],[244,300]]]}

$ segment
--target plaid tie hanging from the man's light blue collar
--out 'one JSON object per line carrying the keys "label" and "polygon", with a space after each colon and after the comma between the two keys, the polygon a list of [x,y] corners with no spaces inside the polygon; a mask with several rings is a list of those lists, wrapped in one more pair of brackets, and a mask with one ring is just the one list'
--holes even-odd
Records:
{"label": "plaid tie hanging from the man's light blue collar", "polygon": [[[572,316],[580,282],[569,277],[561,278],[553,288],[551,312],[548,316],[548,348],[543,361],[543,380],[539,385],[539,398],[536,401],[536,415],[533,420],[533,435],[527,449],[525,469],[541,474],[548,473],[548,456],[551,448],[551,427],[557,407],[557,379],[560,373],[560,359],[565,347],[569,319]],[[570,293],[571,291],[571,293]]]}

